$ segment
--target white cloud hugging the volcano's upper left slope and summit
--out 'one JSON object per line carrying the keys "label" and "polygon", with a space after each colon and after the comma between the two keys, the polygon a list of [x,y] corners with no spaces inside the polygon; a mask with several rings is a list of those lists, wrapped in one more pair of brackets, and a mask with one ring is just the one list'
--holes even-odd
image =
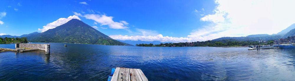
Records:
{"label": "white cloud hugging the volcano's upper left slope and summit", "polygon": [[53,29],[57,26],[60,26],[60,25],[63,25],[65,23],[67,23],[68,21],[70,21],[71,19],[78,19],[78,20],[81,20],[78,16],[76,15],[73,15],[73,16],[69,16],[68,18],[59,18],[58,20],[56,21],[53,21],[52,23],[48,23],[46,26],[43,26],[42,29],[38,28],[39,31],[41,32],[45,32],[49,29]]}

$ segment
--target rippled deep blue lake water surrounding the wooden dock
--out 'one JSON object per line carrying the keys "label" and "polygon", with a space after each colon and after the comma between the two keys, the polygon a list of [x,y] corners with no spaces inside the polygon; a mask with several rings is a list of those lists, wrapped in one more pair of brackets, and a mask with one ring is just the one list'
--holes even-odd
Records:
{"label": "rippled deep blue lake water surrounding the wooden dock", "polygon": [[[0,80],[99,80],[140,68],[150,81],[295,80],[295,49],[136,47],[50,43],[44,51],[0,53]],[[1,44],[0,48],[14,48]]]}

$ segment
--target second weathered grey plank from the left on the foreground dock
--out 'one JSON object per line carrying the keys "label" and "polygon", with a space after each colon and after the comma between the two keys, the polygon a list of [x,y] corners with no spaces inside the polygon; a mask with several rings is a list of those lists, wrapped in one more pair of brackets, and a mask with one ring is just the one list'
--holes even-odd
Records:
{"label": "second weathered grey plank from the left on the foreground dock", "polygon": [[130,77],[128,68],[120,68],[118,81],[128,81]]}

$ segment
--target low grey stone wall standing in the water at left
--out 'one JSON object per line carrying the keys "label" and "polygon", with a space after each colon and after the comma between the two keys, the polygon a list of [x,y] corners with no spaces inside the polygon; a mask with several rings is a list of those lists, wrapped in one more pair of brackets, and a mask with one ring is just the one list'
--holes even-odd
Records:
{"label": "low grey stone wall standing in the water at left", "polygon": [[20,43],[20,44],[15,44],[15,48],[39,49],[39,50],[45,50],[45,54],[50,53],[50,44]]}

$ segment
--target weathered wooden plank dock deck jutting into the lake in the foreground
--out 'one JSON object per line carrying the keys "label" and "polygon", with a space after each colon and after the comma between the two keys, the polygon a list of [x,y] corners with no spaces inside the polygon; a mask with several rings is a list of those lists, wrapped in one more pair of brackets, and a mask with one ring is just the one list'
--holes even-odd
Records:
{"label": "weathered wooden plank dock deck jutting into the lake in the foreground", "polygon": [[140,69],[116,67],[111,81],[148,81]]}

